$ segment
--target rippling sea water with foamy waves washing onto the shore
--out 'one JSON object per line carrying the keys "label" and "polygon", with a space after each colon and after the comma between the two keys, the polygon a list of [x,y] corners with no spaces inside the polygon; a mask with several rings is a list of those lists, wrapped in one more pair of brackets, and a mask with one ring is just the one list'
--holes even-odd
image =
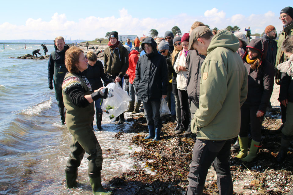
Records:
{"label": "rippling sea water with foamy waves washing onto the shore", "polygon": [[[72,136],[61,124],[55,92],[48,88],[48,59],[16,59],[35,49],[44,54],[41,45],[0,47],[0,194],[92,194],[87,154],[78,169],[78,181],[84,184],[66,189],[64,168]],[[53,45],[47,48],[47,54],[54,51]],[[94,129],[95,124],[96,119]],[[134,168],[130,154],[141,148],[132,145],[133,134],[114,137],[130,125],[110,123],[104,113],[104,130],[95,130],[103,150],[103,184]]]}

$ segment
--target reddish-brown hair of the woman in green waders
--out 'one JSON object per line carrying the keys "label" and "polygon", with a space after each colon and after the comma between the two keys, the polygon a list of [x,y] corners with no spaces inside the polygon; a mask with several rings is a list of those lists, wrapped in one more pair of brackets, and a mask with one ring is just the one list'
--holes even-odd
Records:
{"label": "reddish-brown hair of the woman in green waders", "polygon": [[70,47],[65,52],[65,66],[70,73],[78,73],[79,55],[83,51],[75,46]]}

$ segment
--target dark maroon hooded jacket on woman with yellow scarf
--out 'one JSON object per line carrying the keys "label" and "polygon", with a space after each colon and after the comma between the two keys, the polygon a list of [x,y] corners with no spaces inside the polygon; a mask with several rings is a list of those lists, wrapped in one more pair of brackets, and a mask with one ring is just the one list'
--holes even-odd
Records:
{"label": "dark maroon hooded jacket on woman with yellow scarf", "polygon": [[248,50],[243,60],[248,73],[248,94],[244,102],[246,105],[258,106],[258,110],[266,112],[274,85],[275,68],[266,60],[267,42],[264,39],[252,39],[247,46],[261,51],[261,66],[258,69],[251,69],[251,64],[246,61]]}

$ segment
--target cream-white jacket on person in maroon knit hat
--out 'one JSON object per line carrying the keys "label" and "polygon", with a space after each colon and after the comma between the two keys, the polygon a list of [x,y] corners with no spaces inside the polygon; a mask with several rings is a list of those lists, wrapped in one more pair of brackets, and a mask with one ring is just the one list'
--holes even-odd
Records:
{"label": "cream-white jacket on person in maroon knit hat", "polygon": [[187,75],[186,75],[187,70],[186,71],[183,71],[183,70],[178,71],[177,67],[178,66],[186,67],[185,62],[186,62],[186,56],[185,56],[185,52],[183,49],[179,52],[178,58],[176,59],[176,62],[173,66],[175,72],[177,73],[177,78],[176,78],[177,88],[180,90],[186,90],[186,88],[187,88]]}

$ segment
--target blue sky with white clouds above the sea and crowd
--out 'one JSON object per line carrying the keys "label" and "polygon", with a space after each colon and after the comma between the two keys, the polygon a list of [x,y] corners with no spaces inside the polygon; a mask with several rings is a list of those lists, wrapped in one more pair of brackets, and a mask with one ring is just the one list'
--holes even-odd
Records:
{"label": "blue sky with white clouds above the sea and crowd", "polygon": [[[262,34],[273,25],[280,32],[280,11],[289,1],[4,1],[0,0],[0,40],[54,39],[94,40],[107,32],[149,35],[156,29],[159,37],[178,26],[184,34],[195,21],[211,29],[238,26],[245,33]],[[245,33],[246,34],[246,33]]]}

